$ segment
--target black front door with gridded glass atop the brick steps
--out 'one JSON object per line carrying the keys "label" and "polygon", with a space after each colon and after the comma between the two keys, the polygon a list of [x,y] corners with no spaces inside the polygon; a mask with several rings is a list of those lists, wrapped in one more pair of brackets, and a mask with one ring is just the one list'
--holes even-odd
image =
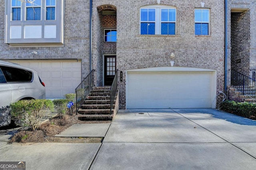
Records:
{"label": "black front door with gridded glass atop the brick steps", "polygon": [[104,85],[111,86],[116,74],[116,56],[105,56]]}

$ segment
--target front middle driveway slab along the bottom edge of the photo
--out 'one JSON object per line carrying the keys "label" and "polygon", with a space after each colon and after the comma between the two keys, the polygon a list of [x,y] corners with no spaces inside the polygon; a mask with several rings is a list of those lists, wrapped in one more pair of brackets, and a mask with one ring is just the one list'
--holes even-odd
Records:
{"label": "front middle driveway slab along the bottom edge of the photo", "polygon": [[255,170],[229,143],[103,143],[90,170]]}

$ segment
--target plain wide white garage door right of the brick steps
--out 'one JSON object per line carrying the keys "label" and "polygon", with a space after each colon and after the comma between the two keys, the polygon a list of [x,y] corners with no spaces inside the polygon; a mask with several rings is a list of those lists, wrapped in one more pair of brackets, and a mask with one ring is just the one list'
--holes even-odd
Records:
{"label": "plain wide white garage door right of the brick steps", "polygon": [[127,72],[127,109],[215,107],[212,71],[138,70]]}

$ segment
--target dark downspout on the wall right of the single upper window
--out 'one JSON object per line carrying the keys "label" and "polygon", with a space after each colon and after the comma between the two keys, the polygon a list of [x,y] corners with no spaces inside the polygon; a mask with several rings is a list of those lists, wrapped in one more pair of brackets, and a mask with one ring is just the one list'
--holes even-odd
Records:
{"label": "dark downspout on the wall right of the single upper window", "polygon": [[228,74],[228,0],[225,0],[225,71],[224,71],[224,93],[227,94]]}

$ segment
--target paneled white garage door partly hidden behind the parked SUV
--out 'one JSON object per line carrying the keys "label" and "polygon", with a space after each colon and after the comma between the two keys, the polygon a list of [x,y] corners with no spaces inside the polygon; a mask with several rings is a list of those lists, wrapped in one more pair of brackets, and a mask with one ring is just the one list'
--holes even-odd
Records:
{"label": "paneled white garage door partly hidden behind the parked SUV", "polygon": [[10,61],[32,68],[45,84],[46,98],[64,98],[75,93],[81,82],[81,61],[77,60],[24,60]]}

